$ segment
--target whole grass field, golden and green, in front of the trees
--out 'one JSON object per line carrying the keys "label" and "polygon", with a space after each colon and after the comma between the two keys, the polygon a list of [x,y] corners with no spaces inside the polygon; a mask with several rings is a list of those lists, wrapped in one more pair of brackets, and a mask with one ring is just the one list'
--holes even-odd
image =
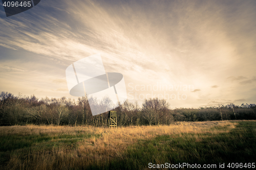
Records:
{"label": "whole grass field, golden and green, in front of the trees", "polygon": [[148,163],[217,167],[220,163],[256,163],[256,121],[177,122],[117,129],[11,126],[0,127],[0,138],[0,169],[152,169]]}

